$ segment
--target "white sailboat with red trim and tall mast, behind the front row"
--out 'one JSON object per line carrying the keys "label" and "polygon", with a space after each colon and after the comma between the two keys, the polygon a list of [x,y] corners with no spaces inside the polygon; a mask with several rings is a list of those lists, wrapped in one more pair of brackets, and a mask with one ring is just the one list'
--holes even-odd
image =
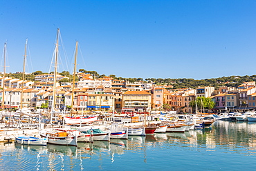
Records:
{"label": "white sailboat with red trim and tall mast, behind the front row", "polygon": [[[75,63],[74,63],[74,71],[73,71],[73,88],[72,88],[72,102],[71,102],[71,110],[73,110],[73,99],[74,99],[74,89],[75,89],[75,72],[76,72],[76,59],[77,59],[77,44],[75,43]],[[72,111],[71,111],[72,113]],[[64,121],[68,125],[77,125],[77,124],[84,124],[96,121],[98,119],[97,116],[93,117],[64,117]]]}

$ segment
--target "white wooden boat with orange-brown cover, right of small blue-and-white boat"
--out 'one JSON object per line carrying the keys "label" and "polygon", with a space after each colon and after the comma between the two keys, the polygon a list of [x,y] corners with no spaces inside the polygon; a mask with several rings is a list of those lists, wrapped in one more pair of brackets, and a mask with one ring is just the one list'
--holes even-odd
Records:
{"label": "white wooden boat with orange-brown cover, right of small blue-and-white boat", "polygon": [[40,134],[40,136],[48,138],[48,143],[77,146],[77,137],[68,132],[58,132],[56,130],[53,132],[44,132],[43,134]]}

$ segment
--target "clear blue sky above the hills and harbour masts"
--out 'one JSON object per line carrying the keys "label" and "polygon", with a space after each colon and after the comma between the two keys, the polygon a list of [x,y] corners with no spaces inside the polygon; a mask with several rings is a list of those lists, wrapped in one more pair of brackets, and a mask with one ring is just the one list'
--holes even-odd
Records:
{"label": "clear blue sky above the hills and harbour masts", "polygon": [[49,72],[60,28],[59,72],[72,71],[77,40],[77,70],[143,79],[256,74],[255,0],[1,0],[0,23],[7,72],[23,70],[26,39],[26,72]]}

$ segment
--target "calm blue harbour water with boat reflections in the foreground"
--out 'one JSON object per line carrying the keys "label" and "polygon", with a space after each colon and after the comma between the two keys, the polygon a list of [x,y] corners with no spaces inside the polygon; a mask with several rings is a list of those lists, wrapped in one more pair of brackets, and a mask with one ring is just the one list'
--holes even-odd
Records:
{"label": "calm blue harbour water with boat reflections in the foreground", "polygon": [[61,145],[0,144],[0,170],[255,170],[256,123]]}

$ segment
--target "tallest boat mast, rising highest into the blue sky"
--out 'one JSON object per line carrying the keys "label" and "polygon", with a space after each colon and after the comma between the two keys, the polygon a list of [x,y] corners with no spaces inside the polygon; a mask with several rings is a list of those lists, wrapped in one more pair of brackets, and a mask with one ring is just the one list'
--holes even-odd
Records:
{"label": "tallest boat mast, rising highest into the blue sky", "polygon": [[56,78],[57,78],[57,56],[58,56],[58,48],[59,48],[59,33],[60,33],[60,28],[57,29],[57,39],[55,44],[55,65],[54,65],[54,77],[53,77],[53,103],[51,108],[51,123],[53,121],[53,111],[55,110],[55,103],[56,103]]}

